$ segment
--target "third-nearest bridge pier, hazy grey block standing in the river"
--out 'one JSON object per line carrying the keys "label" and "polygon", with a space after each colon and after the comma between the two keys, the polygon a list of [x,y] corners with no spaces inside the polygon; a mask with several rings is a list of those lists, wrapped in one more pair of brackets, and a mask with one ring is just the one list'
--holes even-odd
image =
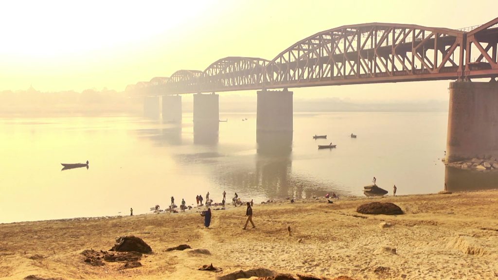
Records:
{"label": "third-nearest bridge pier, hazy grey block standing in the river", "polygon": [[220,127],[220,96],[194,94],[194,143],[218,143]]}

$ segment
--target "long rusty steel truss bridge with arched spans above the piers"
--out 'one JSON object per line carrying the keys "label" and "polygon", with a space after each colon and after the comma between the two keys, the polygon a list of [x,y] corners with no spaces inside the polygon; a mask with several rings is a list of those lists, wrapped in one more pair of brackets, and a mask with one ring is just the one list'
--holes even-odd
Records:
{"label": "long rusty steel truss bridge with arched spans above the piers", "polygon": [[345,25],[298,41],[272,60],[225,57],[126,87],[144,95],[469,80],[498,77],[498,18],[464,29]]}

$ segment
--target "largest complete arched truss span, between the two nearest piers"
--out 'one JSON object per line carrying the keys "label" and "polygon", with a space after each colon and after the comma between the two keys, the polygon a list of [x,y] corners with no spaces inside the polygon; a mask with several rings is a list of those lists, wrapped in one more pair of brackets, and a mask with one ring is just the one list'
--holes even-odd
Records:
{"label": "largest complete arched truss span, between the two nearest piers", "polygon": [[464,33],[413,24],[344,25],[296,42],[266,71],[272,87],[456,79]]}

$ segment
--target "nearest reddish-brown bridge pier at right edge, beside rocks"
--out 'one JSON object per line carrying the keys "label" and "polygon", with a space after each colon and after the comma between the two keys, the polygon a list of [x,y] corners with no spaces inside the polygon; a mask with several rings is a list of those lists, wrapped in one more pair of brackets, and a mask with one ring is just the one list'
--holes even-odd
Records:
{"label": "nearest reddish-brown bridge pier at right edge, beside rocks", "polygon": [[498,83],[450,83],[446,161],[498,157]]}

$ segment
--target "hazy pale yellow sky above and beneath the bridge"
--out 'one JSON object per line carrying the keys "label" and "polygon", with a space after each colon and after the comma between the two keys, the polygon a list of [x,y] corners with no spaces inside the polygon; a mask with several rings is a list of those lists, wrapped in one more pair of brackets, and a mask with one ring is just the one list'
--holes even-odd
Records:
{"label": "hazy pale yellow sky above and beneath the bridge", "polygon": [[[130,3],[131,2],[131,3]],[[496,0],[2,1],[0,90],[76,90],[204,70],[226,56],[272,59],[322,30],[365,22],[462,28]],[[299,98],[447,99],[448,81],[294,90]]]}

